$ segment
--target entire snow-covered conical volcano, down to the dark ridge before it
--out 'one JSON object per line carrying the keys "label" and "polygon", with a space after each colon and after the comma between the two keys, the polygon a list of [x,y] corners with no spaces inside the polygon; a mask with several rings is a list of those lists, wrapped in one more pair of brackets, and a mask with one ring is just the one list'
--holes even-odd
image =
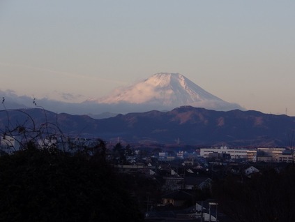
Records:
{"label": "entire snow-covered conical volcano, down to the dark ridge before it", "polygon": [[111,112],[172,110],[186,105],[217,111],[244,110],[213,96],[179,73],[156,73],[130,87],[115,89],[109,96],[84,103],[107,105]]}

